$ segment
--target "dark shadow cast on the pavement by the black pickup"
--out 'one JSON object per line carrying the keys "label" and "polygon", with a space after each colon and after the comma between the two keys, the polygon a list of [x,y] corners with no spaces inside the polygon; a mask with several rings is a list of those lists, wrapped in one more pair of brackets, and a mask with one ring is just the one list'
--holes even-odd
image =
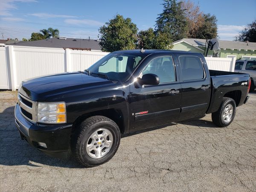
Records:
{"label": "dark shadow cast on the pavement by the black pickup", "polygon": [[[203,119],[183,121],[180,123],[205,128],[216,127],[212,122]],[[177,125],[177,123],[136,131],[130,134],[125,134],[122,138],[173,125]],[[30,146],[25,140],[21,140],[20,134],[15,126],[14,107],[6,108],[2,113],[0,113],[0,165],[26,165],[35,167],[48,165],[64,168],[84,168],[82,165],[77,163],[72,156],[66,159],[49,157],[38,149]]]}

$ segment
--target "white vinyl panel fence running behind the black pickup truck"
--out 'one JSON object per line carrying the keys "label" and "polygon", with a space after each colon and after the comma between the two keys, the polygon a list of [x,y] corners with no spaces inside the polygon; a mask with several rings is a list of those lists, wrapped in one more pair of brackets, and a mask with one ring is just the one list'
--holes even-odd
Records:
{"label": "white vinyl panel fence running behind the black pickup truck", "polygon": [[[0,47],[0,89],[16,90],[21,81],[37,76],[82,71],[107,54],[108,52],[46,47]],[[206,57],[206,61],[209,69],[234,71],[236,57]],[[113,60],[113,68],[115,67]]]}

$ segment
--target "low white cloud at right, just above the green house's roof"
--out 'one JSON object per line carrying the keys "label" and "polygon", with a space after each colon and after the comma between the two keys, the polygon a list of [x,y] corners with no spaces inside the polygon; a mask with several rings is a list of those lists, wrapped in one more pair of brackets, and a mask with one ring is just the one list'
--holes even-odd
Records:
{"label": "low white cloud at right, just above the green house's roof", "polygon": [[233,41],[235,36],[244,29],[244,25],[218,25],[218,36],[220,40]]}

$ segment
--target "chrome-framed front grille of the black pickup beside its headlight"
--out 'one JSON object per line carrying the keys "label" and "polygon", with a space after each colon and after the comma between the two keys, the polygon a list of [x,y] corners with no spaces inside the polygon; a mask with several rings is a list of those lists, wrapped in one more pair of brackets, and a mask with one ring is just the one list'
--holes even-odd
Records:
{"label": "chrome-framed front grille of the black pickup beside its headlight", "polygon": [[32,101],[31,99],[26,98],[25,96],[18,93],[20,113],[27,120],[36,122],[36,105],[37,102]]}

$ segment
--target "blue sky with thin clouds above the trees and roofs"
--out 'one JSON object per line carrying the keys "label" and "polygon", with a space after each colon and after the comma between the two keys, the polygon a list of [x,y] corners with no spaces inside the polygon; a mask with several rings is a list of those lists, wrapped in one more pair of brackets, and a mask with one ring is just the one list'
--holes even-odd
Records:
{"label": "blue sky with thin clouds above the trees and roofs", "polygon": [[[256,0],[192,0],[201,11],[216,15],[221,40],[232,41],[244,26],[256,20]],[[69,38],[96,39],[98,29],[116,14],[130,17],[137,27],[154,27],[162,0],[0,0],[0,35],[30,38],[32,32],[58,28]]]}

